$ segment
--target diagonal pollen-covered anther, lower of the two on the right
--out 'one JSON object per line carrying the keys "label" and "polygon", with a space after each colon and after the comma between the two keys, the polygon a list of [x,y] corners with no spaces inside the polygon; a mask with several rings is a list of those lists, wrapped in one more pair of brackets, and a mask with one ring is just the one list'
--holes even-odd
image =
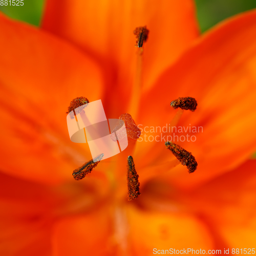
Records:
{"label": "diagonal pollen-covered anther, lower of the two on the right", "polygon": [[197,169],[197,161],[195,157],[188,151],[184,150],[181,146],[171,142],[165,142],[166,148],[172,151],[174,156],[180,161],[182,165],[186,165],[189,173],[194,173]]}

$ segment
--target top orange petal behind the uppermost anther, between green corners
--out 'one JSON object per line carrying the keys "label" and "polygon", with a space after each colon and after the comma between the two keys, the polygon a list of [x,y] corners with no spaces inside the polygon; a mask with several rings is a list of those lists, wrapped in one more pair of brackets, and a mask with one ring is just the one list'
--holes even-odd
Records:
{"label": "top orange petal behind the uppermost anther, between green corners", "polygon": [[111,98],[113,105],[116,97],[122,101],[113,105],[112,114],[118,116],[125,113],[135,77],[133,31],[145,25],[150,34],[144,44],[143,84],[149,88],[198,36],[193,1],[55,0],[47,2],[42,21],[42,28],[72,41],[101,63],[106,102]]}

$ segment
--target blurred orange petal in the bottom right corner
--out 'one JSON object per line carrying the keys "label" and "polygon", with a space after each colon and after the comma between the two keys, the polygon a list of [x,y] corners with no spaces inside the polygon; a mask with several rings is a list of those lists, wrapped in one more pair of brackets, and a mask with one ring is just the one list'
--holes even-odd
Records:
{"label": "blurred orange petal in the bottom right corner", "polygon": [[236,170],[198,187],[187,197],[191,207],[213,227],[216,237],[230,248],[255,247],[255,169],[256,161],[249,160]]}

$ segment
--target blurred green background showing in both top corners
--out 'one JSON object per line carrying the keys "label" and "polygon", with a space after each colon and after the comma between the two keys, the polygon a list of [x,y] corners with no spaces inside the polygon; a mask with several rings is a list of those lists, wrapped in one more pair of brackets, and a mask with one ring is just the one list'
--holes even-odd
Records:
{"label": "blurred green background showing in both top corners", "polygon": [[[39,26],[44,2],[24,0],[24,6],[0,6],[0,10],[10,17]],[[200,28],[204,32],[227,17],[256,8],[256,0],[196,0],[196,5]]]}

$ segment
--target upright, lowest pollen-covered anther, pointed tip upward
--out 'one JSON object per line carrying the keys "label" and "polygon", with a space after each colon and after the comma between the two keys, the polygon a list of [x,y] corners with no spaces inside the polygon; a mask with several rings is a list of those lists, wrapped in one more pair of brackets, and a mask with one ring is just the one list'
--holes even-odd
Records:
{"label": "upright, lowest pollen-covered anther, pointed tip upward", "polygon": [[127,200],[132,201],[138,198],[138,196],[140,195],[139,175],[135,170],[132,156],[129,156],[127,158],[127,186],[128,186]]}

